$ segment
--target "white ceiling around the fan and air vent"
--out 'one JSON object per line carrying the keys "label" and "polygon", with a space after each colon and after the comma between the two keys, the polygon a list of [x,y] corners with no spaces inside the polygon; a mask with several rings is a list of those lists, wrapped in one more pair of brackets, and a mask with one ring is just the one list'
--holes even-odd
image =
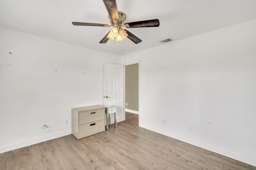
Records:
{"label": "white ceiling around the fan and air vent", "polygon": [[[109,27],[73,26],[75,22],[108,24],[108,12],[102,0],[0,0],[0,27],[17,30],[61,42],[125,55],[256,19],[256,0],[116,0],[126,14],[125,22],[158,18],[154,28],[128,28],[142,40],[135,44],[99,43]],[[171,43],[171,42],[169,42]],[[123,51],[121,51],[123,50]]]}

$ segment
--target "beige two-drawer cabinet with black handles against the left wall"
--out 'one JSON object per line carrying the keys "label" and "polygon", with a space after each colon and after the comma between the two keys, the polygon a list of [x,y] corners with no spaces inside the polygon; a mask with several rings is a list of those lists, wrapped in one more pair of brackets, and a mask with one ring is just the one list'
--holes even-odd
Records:
{"label": "beige two-drawer cabinet with black handles against the left wall", "polygon": [[104,106],[72,108],[72,134],[77,139],[103,131],[105,131]]}

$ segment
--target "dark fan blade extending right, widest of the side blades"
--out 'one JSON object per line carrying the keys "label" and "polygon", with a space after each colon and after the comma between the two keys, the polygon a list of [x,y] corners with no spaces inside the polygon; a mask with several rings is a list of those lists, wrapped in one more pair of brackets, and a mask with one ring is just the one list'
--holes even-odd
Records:
{"label": "dark fan blade extending right, widest of the side blades", "polygon": [[126,28],[138,28],[138,27],[159,27],[159,20],[145,20],[137,22],[128,22],[124,24]]}

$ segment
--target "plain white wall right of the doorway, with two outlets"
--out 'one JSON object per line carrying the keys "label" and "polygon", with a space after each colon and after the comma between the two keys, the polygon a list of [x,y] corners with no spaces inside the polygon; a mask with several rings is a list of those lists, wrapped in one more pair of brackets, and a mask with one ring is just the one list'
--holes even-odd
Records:
{"label": "plain white wall right of the doorway, with two outlets", "polygon": [[252,20],[122,56],[140,61],[140,126],[256,166],[255,30]]}

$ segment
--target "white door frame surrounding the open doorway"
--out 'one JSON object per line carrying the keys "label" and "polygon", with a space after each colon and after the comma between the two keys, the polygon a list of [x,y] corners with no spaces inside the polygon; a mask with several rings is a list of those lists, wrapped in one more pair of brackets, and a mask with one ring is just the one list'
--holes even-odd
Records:
{"label": "white door frame surrounding the open doorway", "polygon": [[132,65],[132,64],[139,64],[139,68],[138,68],[138,77],[139,77],[139,91],[138,91],[138,96],[139,96],[139,100],[138,100],[138,105],[139,105],[139,111],[138,111],[138,117],[139,117],[139,126],[140,126],[140,60],[139,61],[137,61],[137,62],[132,62],[132,63],[126,63],[125,65],[124,65],[124,121],[125,121],[125,107],[126,107],[126,101],[125,101],[125,66],[126,65]]}

